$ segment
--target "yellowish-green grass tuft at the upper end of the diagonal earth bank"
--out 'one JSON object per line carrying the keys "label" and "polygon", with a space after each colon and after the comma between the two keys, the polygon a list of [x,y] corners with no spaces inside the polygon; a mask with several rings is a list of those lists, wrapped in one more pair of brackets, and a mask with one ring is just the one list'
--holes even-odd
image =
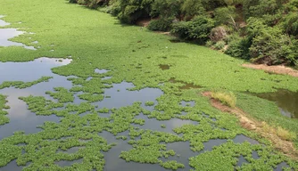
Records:
{"label": "yellowish-green grass tuft at the upper end of the diagonal earth bank", "polygon": [[212,91],[211,97],[213,99],[219,100],[220,102],[228,105],[231,108],[236,107],[236,95],[232,92]]}

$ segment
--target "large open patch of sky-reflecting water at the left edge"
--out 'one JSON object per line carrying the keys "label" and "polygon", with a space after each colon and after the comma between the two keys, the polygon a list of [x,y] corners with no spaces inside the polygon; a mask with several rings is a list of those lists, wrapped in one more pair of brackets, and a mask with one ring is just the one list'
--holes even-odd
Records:
{"label": "large open patch of sky-reflecting water at the left edge", "polygon": [[[19,100],[21,96],[46,96],[46,91],[53,91],[56,86],[71,87],[71,82],[66,77],[52,73],[54,67],[66,65],[70,60],[56,61],[56,59],[38,58],[29,62],[0,62],[0,84],[4,81],[34,81],[43,76],[53,77],[49,82],[32,85],[29,88],[4,88],[0,94],[7,95],[7,105],[11,109],[7,110],[7,117],[10,123],[0,126],[0,140],[12,135],[15,131],[25,131],[26,134],[37,133],[40,131],[38,125],[44,124],[45,121],[59,122],[60,118],[56,116],[36,116],[27,109],[26,102]],[[37,72],[38,70],[38,72]],[[28,77],[29,76],[29,77]]]}

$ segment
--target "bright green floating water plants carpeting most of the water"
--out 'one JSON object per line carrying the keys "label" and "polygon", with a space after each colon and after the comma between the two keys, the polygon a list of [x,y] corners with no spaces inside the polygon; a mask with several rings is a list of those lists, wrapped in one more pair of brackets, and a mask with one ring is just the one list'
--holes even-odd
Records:
{"label": "bright green floating water plants carpeting most of the water", "polygon": [[[233,139],[237,134],[245,134],[268,144],[257,134],[238,126],[236,117],[213,109],[206,98],[197,95],[200,90],[179,89],[184,83],[206,88],[220,87],[232,92],[272,92],[275,90],[273,87],[298,90],[298,80],[294,77],[244,69],[241,67],[244,63],[242,60],[202,46],[172,44],[171,37],[145,29],[142,31],[135,26],[120,25],[118,20],[108,14],[68,4],[63,0],[0,0],[0,12],[6,15],[4,20],[11,23],[7,27],[36,33],[15,37],[13,41],[41,46],[37,51],[21,47],[0,48],[0,61],[31,61],[40,56],[66,58],[71,55],[72,62],[69,65],[52,70],[55,74],[68,77],[73,84],[69,90],[56,87],[54,92],[47,92],[58,102],[46,100],[44,96],[20,97],[28,104],[28,109],[37,115],[55,115],[61,120],[59,123],[46,122],[40,126],[42,131],[36,134],[17,132],[1,140],[0,167],[16,159],[18,165],[27,165],[23,170],[103,170],[105,154],[102,151],[108,152],[116,145],[109,144],[103,138],[101,134],[106,131],[115,136],[125,134],[120,136],[121,139],[124,141],[127,138],[131,145],[129,150],[120,153],[120,159],[152,163],[170,169],[183,168],[186,167],[184,163],[164,161],[176,154],[167,148],[167,143],[189,142],[190,150],[202,151],[204,142],[211,139]],[[36,40],[38,43],[33,44]],[[50,51],[52,49],[54,51]],[[164,63],[171,68],[159,69],[159,65]],[[98,74],[95,69],[109,71]],[[88,77],[92,79],[87,80]],[[103,80],[103,77],[111,78]],[[169,82],[172,77],[176,83]],[[276,79],[280,80],[278,84]],[[154,105],[153,111],[143,109],[141,102],[119,109],[107,109],[104,106],[96,108],[92,102],[104,101],[104,89],[122,81],[135,85],[130,90],[152,87],[160,88],[164,94],[156,99],[157,102],[146,102],[146,105]],[[80,93],[81,100],[86,101],[73,103],[73,94],[77,93]],[[113,98],[110,94],[105,95],[105,98],[108,97]],[[236,106],[249,110],[255,118],[272,120],[298,133],[297,121],[289,118],[278,120],[276,105],[260,99],[254,102],[252,96],[236,94],[236,97]],[[183,101],[194,101],[195,106],[181,106]],[[101,118],[98,113],[111,114]],[[138,128],[146,124],[145,119],[137,118],[140,114],[157,120],[179,118],[199,124],[178,126],[172,130],[174,133],[144,130]],[[20,143],[25,145],[19,146]],[[71,154],[57,152],[77,146],[85,148]],[[260,159],[252,159],[252,151],[258,151]],[[225,143],[213,151],[190,158],[189,164],[195,170],[230,169],[236,167],[240,154],[246,155],[250,163],[239,169],[266,170],[282,161],[298,169],[296,161],[286,158],[270,146],[247,142]],[[227,158],[222,159],[222,156]],[[57,161],[76,159],[83,159],[83,162],[64,168],[55,165]],[[264,160],[267,162],[260,162]]]}

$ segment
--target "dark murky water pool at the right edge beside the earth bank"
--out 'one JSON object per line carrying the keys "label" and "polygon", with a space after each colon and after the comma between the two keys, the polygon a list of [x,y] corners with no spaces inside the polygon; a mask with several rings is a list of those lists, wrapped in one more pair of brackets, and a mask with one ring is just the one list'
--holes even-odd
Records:
{"label": "dark murky water pool at the right edge beside the earth bank", "polygon": [[279,89],[274,93],[255,94],[256,96],[277,102],[281,114],[289,118],[298,118],[298,92]]}

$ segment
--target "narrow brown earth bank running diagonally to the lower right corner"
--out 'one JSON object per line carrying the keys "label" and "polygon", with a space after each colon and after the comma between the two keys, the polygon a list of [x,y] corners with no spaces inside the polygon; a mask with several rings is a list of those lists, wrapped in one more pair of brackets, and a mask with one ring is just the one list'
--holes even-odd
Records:
{"label": "narrow brown earth bank running diagonally to the lower right corner", "polygon": [[[245,129],[261,134],[264,138],[267,138],[278,151],[282,151],[286,156],[292,159],[298,160],[298,151],[294,148],[294,143],[281,139],[277,134],[274,134],[276,128],[265,125],[264,122],[260,122],[256,119],[249,117],[247,113],[239,108],[232,109],[221,102],[211,98],[211,92],[204,92],[203,96],[209,97],[211,105],[218,110],[228,112],[236,115],[239,118],[240,125]],[[265,127],[266,126],[266,127]],[[274,130],[274,131],[269,131]]]}

